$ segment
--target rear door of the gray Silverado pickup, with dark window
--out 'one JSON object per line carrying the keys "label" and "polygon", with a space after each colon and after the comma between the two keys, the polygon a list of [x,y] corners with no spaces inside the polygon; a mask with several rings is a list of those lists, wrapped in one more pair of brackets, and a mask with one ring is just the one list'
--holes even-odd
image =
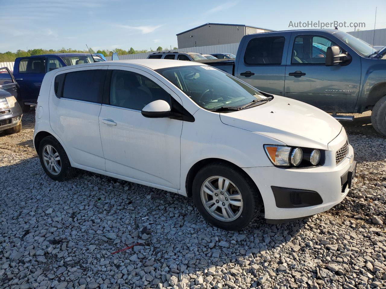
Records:
{"label": "rear door of the gray Silverado pickup, with dark window", "polygon": [[285,34],[248,35],[242,44],[244,55],[236,59],[235,76],[261,91],[282,96],[288,41]]}

